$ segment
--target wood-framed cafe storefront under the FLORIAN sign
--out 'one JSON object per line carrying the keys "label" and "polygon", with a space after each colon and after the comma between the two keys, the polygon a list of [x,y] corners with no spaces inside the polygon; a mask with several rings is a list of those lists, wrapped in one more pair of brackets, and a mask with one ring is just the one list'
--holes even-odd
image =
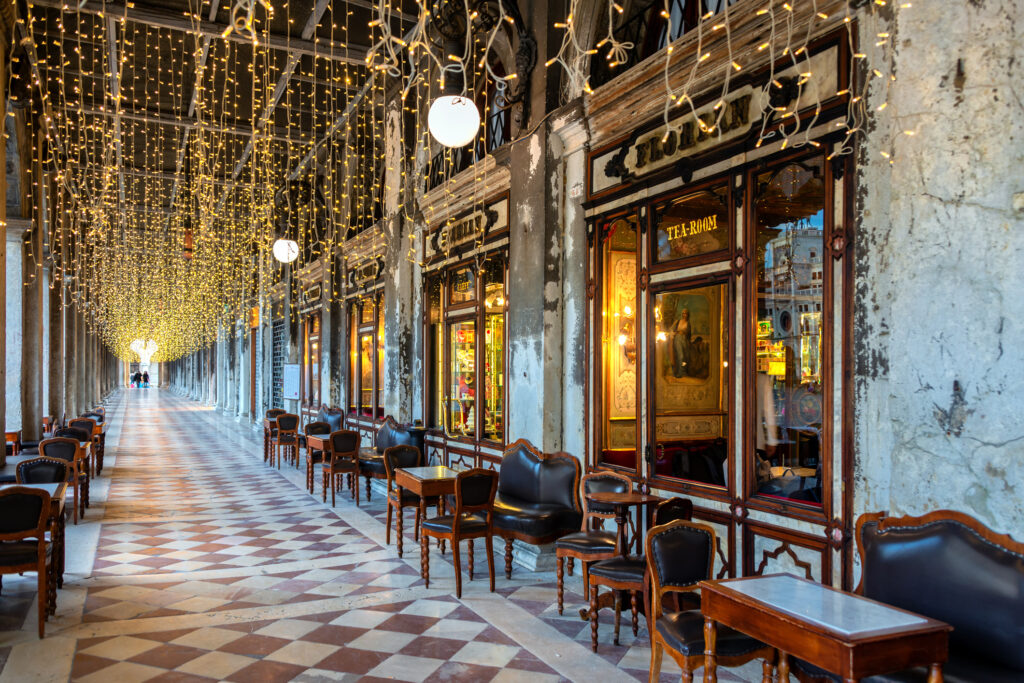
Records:
{"label": "wood-framed cafe storefront under the FLORIAN sign", "polygon": [[722,575],[852,580],[843,36],[588,159],[587,465],[692,498]]}

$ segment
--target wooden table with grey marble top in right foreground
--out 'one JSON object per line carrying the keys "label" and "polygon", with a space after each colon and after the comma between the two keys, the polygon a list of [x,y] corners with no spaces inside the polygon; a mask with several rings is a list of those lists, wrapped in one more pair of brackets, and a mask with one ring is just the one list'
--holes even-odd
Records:
{"label": "wooden table with grey marble top in right foreground", "polygon": [[778,678],[793,655],[852,683],[866,676],[930,667],[942,683],[952,627],[927,616],[791,574],[700,583],[705,683],[717,683],[715,637],[724,624],[778,649]]}

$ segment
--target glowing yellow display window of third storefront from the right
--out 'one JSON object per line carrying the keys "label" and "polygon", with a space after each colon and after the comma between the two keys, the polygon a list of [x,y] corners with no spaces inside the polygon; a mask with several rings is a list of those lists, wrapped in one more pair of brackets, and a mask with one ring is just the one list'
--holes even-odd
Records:
{"label": "glowing yellow display window of third storefront from the right", "polygon": [[371,419],[384,417],[380,391],[384,370],[384,306],[381,297],[366,297],[351,304],[349,364],[349,414]]}

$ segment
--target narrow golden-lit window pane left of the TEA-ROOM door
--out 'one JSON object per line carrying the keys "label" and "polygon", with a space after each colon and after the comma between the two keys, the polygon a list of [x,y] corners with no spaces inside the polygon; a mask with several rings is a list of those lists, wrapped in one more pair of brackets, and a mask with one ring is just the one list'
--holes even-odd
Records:
{"label": "narrow golden-lit window pane left of the TEA-ROOM door", "polygon": [[637,467],[637,219],[601,228],[602,434],[600,462]]}

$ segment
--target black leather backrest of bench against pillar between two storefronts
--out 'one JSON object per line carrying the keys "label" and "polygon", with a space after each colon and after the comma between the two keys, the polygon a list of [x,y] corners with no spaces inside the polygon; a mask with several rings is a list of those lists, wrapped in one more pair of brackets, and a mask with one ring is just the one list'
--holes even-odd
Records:
{"label": "black leather backrest of bench against pillar between two storefronts", "polygon": [[498,490],[503,498],[580,510],[580,461],[571,456],[542,459],[519,440],[505,452],[499,472]]}

